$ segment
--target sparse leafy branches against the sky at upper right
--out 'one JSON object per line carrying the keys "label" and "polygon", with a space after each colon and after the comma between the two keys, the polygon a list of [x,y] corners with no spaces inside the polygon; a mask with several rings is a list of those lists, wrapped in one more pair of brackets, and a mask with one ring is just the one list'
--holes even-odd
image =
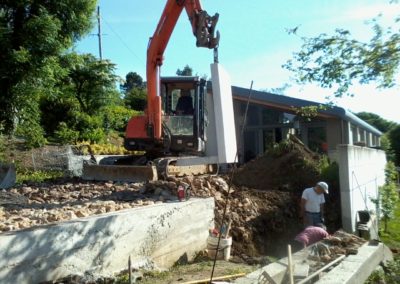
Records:
{"label": "sparse leafy branches against the sky at upper right", "polygon": [[355,82],[374,81],[380,88],[390,88],[399,71],[400,34],[396,27],[382,28],[378,20],[372,21],[374,36],[369,42],[358,41],[343,29],[337,29],[334,35],[303,38],[301,51],[284,66],[296,74],[297,82],[335,88],[336,96],[349,94]]}

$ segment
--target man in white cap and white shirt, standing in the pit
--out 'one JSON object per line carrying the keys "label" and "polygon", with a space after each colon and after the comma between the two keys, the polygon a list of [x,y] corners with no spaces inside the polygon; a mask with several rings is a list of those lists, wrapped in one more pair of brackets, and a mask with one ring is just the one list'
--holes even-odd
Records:
{"label": "man in white cap and white shirt, standing in the pit", "polygon": [[324,193],[328,194],[328,184],[320,181],[314,187],[306,188],[301,196],[301,217],[304,227],[324,223]]}

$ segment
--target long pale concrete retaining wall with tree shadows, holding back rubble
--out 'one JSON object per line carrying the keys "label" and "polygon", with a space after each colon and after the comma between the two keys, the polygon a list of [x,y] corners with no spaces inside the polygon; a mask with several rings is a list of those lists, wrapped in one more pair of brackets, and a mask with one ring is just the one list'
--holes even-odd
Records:
{"label": "long pale concrete retaining wall with tree shadows, holding back rubble", "polygon": [[170,267],[206,248],[214,199],[134,208],[0,234],[0,283],[37,283],[71,274]]}

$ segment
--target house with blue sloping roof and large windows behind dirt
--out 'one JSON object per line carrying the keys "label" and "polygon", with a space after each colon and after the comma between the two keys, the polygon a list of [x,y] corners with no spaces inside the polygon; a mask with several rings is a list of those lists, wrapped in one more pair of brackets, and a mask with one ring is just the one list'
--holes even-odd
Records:
{"label": "house with blue sloping roof and large windows behind dirt", "polygon": [[341,107],[326,106],[306,120],[296,115],[296,109],[319,103],[235,86],[232,95],[240,163],[261,155],[289,134],[331,158],[341,144],[380,147],[382,133]]}

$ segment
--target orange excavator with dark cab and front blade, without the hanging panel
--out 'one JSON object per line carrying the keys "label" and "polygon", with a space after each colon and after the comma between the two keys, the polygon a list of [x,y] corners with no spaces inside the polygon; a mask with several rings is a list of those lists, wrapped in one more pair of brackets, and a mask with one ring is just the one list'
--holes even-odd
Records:
{"label": "orange excavator with dark cab and front blade, without the hanging panel", "polygon": [[[119,164],[117,160],[112,165],[108,165],[108,161],[96,161],[93,158],[94,162],[86,162],[83,165],[84,179],[140,181],[156,180],[160,172],[164,177],[214,172],[215,168],[208,164],[188,162],[188,164],[179,165],[181,161],[178,159],[151,157],[152,154],[150,154],[162,151],[184,152],[189,149],[190,152],[199,155],[204,151],[204,101],[207,92],[205,81],[195,77],[163,82],[160,79],[164,51],[183,9],[189,17],[192,32],[196,38],[196,46],[208,49],[218,47],[219,33],[215,30],[218,14],[209,16],[202,9],[200,0],[167,0],[147,49],[147,108],[144,115],[130,119],[125,131],[125,148],[146,151],[148,160],[141,166],[137,163],[133,163],[135,166],[132,166],[132,164],[115,165]],[[194,112],[191,115],[176,115],[176,110],[172,109],[175,96],[182,94],[183,89],[186,89],[195,101]],[[164,102],[161,92],[163,92]],[[164,103],[164,109],[162,103]],[[163,117],[166,121],[163,121]],[[171,128],[167,125],[168,122],[170,124],[176,122],[178,124],[175,126],[177,126],[185,121],[189,122],[189,132],[185,133],[180,130],[179,133],[172,133],[180,126]],[[172,141],[171,136],[174,134],[174,141]],[[141,160],[141,158],[136,160]]]}

